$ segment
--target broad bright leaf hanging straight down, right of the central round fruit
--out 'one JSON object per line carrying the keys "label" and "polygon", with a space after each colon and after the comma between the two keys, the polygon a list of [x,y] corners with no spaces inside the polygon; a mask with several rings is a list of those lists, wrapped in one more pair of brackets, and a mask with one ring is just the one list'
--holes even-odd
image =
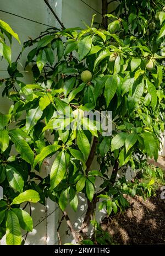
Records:
{"label": "broad bright leaf hanging straight down, right of the central round fruit", "polygon": [[113,76],[109,76],[105,84],[105,98],[106,98],[107,107],[109,106],[109,103],[114,97],[117,87],[118,87],[118,76],[116,74],[114,74]]}

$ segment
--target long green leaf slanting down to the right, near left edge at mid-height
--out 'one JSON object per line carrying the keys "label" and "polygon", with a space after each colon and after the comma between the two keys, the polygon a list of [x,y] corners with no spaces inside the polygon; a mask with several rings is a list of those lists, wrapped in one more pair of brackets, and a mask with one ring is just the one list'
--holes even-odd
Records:
{"label": "long green leaf slanting down to the right, near left edge at mid-height", "polygon": [[34,162],[34,152],[32,152],[25,139],[21,136],[21,134],[19,134],[18,130],[10,130],[9,135],[15,145],[16,150],[21,154],[21,157],[32,166]]}

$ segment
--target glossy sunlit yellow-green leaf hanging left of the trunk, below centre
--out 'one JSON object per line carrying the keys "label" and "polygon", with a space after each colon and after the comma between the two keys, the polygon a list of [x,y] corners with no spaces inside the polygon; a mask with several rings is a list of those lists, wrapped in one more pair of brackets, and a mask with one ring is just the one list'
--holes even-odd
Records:
{"label": "glossy sunlit yellow-green leaf hanging left of the trunk, below centre", "polygon": [[66,172],[65,154],[60,152],[51,169],[51,189],[53,190],[62,181]]}

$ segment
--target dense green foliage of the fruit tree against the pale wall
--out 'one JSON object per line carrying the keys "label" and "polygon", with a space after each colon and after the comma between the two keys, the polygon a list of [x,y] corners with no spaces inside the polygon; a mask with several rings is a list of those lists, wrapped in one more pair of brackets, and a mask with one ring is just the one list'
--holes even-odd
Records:
{"label": "dense green foliage of the fruit tree against the pale wall", "polygon": [[[20,81],[17,62],[8,67],[3,95],[13,105],[0,114],[0,236],[6,232],[8,244],[21,243],[20,227],[32,229],[31,217],[18,208],[24,201],[45,204],[49,197],[62,211],[68,202],[76,211],[83,193],[88,205],[103,199],[99,207],[110,215],[128,207],[125,193],[151,195],[152,180],[144,186],[117,180],[117,173],[140,169],[144,158],[158,157],[164,130],[165,13],[153,1],[120,2],[117,13],[125,11],[120,18],[107,14],[112,19],[108,30],[95,28],[93,17],[86,29],[51,28],[25,42],[33,84]],[[81,81],[85,70],[92,73],[89,82]],[[112,111],[112,135],[104,137],[97,121],[84,115],[91,110]],[[91,169],[95,151],[98,170]],[[42,179],[43,161],[54,154],[51,173]]]}

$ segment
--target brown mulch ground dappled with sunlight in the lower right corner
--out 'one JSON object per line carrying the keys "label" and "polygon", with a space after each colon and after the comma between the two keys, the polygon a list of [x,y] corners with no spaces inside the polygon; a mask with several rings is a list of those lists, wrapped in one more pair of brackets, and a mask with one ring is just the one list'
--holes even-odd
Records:
{"label": "brown mulch ground dappled with sunlight in the lower right corner", "polygon": [[125,196],[131,207],[101,223],[118,244],[165,244],[165,200],[161,190],[150,199]]}

